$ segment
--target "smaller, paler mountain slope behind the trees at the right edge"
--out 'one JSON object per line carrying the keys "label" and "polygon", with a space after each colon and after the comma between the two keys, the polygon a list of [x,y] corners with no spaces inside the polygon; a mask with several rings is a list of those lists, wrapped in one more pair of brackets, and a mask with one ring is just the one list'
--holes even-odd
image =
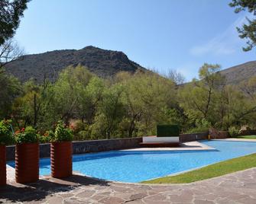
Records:
{"label": "smaller, paler mountain slope behind the trees at the right edge", "polygon": [[256,76],[256,61],[245,62],[220,71],[225,76],[227,84],[238,84]]}

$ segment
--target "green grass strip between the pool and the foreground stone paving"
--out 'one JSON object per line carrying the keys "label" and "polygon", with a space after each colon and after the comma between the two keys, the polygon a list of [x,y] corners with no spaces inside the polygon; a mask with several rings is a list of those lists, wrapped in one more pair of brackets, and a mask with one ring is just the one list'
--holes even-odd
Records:
{"label": "green grass strip between the pool and the foreground stone paving", "polygon": [[141,183],[191,183],[198,180],[205,180],[212,177],[219,177],[235,171],[242,171],[251,167],[256,167],[256,154],[233,158],[217,164],[211,164],[200,169],[189,171],[176,176],[162,177],[148,180]]}

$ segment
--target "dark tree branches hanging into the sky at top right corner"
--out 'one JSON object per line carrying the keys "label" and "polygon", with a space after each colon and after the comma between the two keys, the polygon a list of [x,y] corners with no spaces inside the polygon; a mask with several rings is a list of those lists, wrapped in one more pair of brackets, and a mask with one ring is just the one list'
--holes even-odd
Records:
{"label": "dark tree branches hanging into the sky at top right corner", "polygon": [[[229,4],[231,7],[235,8],[235,13],[241,11],[248,11],[256,15],[256,1],[255,0],[232,0]],[[239,37],[241,39],[248,39],[246,47],[243,47],[244,51],[251,50],[256,46],[256,19],[250,20],[247,18],[248,24],[243,24],[242,27],[237,27]]]}

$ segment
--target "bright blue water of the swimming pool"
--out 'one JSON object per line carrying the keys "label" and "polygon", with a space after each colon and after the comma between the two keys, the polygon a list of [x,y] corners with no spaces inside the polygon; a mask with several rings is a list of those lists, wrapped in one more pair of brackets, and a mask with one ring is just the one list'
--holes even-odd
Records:
{"label": "bright blue water of the swimming pool", "polygon": [[[207,151],[108,151],[73,155],[73,171],[91,177],[140,182],[203,167],[256,152],[256,142],[203,141]],[[9,163],[15,166],[14,162]],[[50,174],[50,159],[41,159],[40,174]]]}

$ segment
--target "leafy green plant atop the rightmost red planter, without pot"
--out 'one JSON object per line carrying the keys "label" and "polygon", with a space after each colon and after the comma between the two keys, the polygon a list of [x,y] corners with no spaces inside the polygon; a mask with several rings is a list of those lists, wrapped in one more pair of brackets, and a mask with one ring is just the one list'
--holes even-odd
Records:
{"label": "leafy green plant atop the rightmost red planter, without pot", "polygon": [[52,142],[71,142],[73,141],[73,132],[69,128],[65,128],[62,121],[57,123]]}

